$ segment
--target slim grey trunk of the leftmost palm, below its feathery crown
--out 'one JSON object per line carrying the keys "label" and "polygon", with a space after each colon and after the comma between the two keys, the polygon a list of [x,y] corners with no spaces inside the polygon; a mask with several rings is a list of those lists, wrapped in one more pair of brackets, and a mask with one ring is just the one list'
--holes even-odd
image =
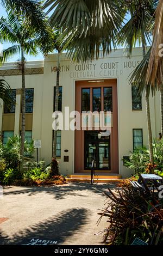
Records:
{"label": "slim grey trunk of the leftmost palm, below its feathery crown", "polygon": [[26,86],[25,86],[25,68],[24,68],[24,48],[21,46],[21,71],[22,71],[22,126],[21,126],[21,164],[20,170],[23,172],[23,160],[24,160],[24,141],[26,130]]}

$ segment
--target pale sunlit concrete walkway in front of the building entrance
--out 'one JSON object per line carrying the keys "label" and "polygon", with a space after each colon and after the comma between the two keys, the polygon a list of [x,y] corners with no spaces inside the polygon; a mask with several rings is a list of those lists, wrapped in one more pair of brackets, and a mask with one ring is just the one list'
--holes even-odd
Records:
{"label": "pale sunlit concrete walkway in front of the building entrance", "polygon": [[97,213],[104,208],[103,192],[108,186],[115,185],[4,187],[0,198],[0,245],[21,245],[34,237],[60,245],[99,245],[103,235],[95,233],[108,223],[103,217],[97,227]]}

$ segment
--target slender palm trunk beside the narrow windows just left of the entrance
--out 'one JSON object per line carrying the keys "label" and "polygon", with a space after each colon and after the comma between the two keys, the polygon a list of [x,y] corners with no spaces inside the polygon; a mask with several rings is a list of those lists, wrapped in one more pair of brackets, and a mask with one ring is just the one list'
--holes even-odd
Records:
{"label": "slender palm trunk beside the narrow windows just left of the entrance", "polygon": [[[58,52],[57,82],[56,82],[56,88],[55,88],[55,111],[58,111],[59,76],[60,76],[60,52]],[[57,130],[54,130],[54,135],[53,135],[53,159],[56,159],[56,157],[57,157]]]}

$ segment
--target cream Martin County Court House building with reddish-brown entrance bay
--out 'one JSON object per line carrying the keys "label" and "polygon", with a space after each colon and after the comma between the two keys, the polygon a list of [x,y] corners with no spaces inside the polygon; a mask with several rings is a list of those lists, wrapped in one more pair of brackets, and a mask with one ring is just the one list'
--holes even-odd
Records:
{"label": "cream Martin County Court House building with reddish-brown entrance bay", "polygon": [[[123,165],[130,151],[148,144],[145,98],[129,85],[129,75],[142,59],[142,49],[135,48],[129,59],[123,49],[92,63],[75,64],[61,55],[59,111],[111,111],[110,136],[99,131],[62,130],[57,132],[57,158],[61,174],[84,173],[95,169],[105,175],[129,176]],[[55,110],[56,66],[58,55],[26,63],[26,139],[41,140],[39,159],[46,164],[52,159],[52,118]],[[0,77],[10,84],[15,104],[9,111],[0,108],[3,142],[21,134],[21,72],[14,63],[0,68]],[[153,137],[160,132],[160,95],[150,96]]]}

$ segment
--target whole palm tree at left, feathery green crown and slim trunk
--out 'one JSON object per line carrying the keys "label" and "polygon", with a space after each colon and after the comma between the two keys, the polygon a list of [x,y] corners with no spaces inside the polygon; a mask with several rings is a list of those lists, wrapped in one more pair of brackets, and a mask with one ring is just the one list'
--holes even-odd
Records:
{"label": "whole palm tree at left, feathery green crown and slim trunk", "polygon": [[[44,28],[43,28],[44,29]],[[37,48],[43,53],[53,51],[53,34],[49,27],[46,27],[45,33],[35,32],[33,27],[29,26],[28,20],[24,21],[23,16],[18,16],[11,11],[8,14],[8,19],[3,17],[0,19],[0,41],[7,41],[12,44],[6,50],[3,50],[3,61],[16,53],[21,53],[20,69],[22,74],[22,124],[21,124],[21,172],[23,170],[24,156],[24,136],[26,125],[26,86],[25,86],[25,58],[24,54],[37,54]]]}

